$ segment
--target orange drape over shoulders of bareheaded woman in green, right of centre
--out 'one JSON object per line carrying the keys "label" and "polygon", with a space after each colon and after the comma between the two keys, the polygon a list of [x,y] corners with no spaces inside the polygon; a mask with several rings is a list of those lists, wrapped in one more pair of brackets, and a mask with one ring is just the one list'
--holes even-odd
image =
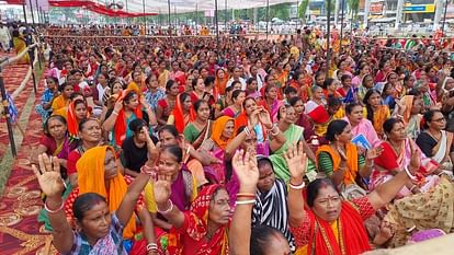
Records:
{"label": "orange drape over shoulders of bareheaded woman in green, right of centre", "polygon": [[[318,155],[320,152],[326,152],[331,157],[332,160],[332,169],[333,171],[337,171],[341,163],[341,157],[339,152],[334,151],[331,146],[321,146],[318,148],[316,152],[316,159],[318,159]],[[347,143],[345,144],[345,155],[347,155],[347,165],[349,166],[349,171],[345,172],[343,175],[343,184],[354,184],[355,178],[357,175],[357,148],[353,143]]]}

